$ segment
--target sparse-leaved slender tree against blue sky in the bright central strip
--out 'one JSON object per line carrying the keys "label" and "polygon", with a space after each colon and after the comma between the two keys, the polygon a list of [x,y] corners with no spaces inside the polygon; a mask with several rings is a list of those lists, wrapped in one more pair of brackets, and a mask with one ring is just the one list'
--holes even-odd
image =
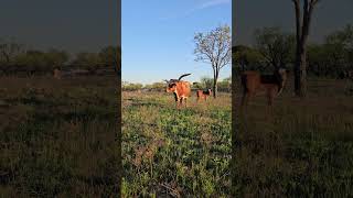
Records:
{"label": "sparse-leaved slender tree against blue sky in the bright central strip", "polygon": [[217,80],[221,69],[231,63],[231,28],[220,25],[208,33],[196,33],[194,54],[196,62],[210,63],[213,69],[213,97],[217,96]]}

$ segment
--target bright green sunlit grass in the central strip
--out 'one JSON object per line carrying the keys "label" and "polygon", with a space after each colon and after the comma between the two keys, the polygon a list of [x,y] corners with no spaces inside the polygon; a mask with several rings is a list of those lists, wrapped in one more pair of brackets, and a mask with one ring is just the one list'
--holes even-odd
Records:
{"label": "bright green sunlit grass in the central strip", "polygon": [[229,95],[180,110],[165,92],[122,96],[124,197],[229,195]]}

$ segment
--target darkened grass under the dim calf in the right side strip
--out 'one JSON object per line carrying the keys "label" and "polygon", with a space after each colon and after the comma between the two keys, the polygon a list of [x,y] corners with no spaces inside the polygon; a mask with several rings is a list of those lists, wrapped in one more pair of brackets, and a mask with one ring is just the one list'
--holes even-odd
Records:
{"label": "darkened grass under the dim calf in the right side strip", "polygon": [[304,100],[295,98],[287,85],[271,116],[265,98],[250,103],[237,121],[233,155],[237,197],[353,196],[353,97],[349,84],[310,80]]}

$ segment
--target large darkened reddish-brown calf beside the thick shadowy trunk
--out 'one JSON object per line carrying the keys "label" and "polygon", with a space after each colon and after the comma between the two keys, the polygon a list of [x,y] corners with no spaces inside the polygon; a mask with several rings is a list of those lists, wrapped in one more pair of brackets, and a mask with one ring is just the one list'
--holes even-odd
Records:
{"label": "large darkened reddish-brown calf beside the thick shadowy trunk", "polygon": [[258,72],[248,70],[242,74],[243,98],[242,106],[256,95],[266,94],[268,106],[272,106],[276,96],[284,90],[287,80],[285,68],[276,69],[274,75],[260,75]]}

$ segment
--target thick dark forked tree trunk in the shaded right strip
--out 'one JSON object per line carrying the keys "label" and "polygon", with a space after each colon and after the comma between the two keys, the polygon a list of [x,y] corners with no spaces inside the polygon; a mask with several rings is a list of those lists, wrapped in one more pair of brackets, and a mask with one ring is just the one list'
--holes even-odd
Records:
{"label": "thick dark forked tree trunk in the shaded right strip", "polygon": [[[299,97],[307,96],[307,42],[313,8],[320,0],[291,0],[296,11],[296,64],[295,91]],[[301,10],[302,6],[302,10]],[[301,15],[301,12],[302,15]]]}

